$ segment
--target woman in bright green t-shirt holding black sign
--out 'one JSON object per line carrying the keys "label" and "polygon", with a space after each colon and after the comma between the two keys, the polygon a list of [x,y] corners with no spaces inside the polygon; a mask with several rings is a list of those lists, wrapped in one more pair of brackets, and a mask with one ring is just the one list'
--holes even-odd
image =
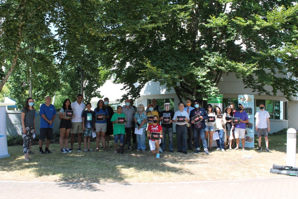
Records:
{"label": "woman in bright green t-shirt holding black sign", "polygon": [[[111,118],[111,122],[114,124],[113,127],[113,135],[114,139],[114,146],[115,150],[114,153],[124,153],[123,143],[124,143],[124,136],[125,136],[125,125],[124,124],[117,124],[118,117],[126,118],[126,115],[122,113],[122,107],[117,106],[117,113],[113,114]],[[126,121],[126,119],[125,119]],[[120,140],[120,147],[117,150],[118,140]]]}

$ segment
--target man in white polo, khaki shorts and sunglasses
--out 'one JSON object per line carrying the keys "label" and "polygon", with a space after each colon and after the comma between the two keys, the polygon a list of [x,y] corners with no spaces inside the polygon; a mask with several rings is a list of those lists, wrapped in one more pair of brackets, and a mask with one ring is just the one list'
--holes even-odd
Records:
{"label": "man in white polo, khaki shorts and sunglasses", "polygon": [[75,135],[78,134],[78,151],[81,152],[81,142],[83,133],[83,118],[82,113],[85,110],[85,104],[83,101],[83,95],[79,94],[77,100],[71,103],[71,108],[74,111],[74,118],[72,118],[72,132],[70,136],[70,149],[74,150]]}

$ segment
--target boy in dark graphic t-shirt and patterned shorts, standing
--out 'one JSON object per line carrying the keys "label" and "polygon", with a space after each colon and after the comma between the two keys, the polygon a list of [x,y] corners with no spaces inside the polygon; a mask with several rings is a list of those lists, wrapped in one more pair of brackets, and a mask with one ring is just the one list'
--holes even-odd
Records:
{"label": "boy in dark graphic t-shirt and patterned shorts, standing", "polygon": [[[86,104],[87,110],[82,114],[85,152],[93,151],[90,149],[90,136],[92,135],[92,131],[95,131],[95,113],[91,110],[91,107],[91,103],[88,102]],[[86,142],[88,142],[88,150],[86,148]]]}

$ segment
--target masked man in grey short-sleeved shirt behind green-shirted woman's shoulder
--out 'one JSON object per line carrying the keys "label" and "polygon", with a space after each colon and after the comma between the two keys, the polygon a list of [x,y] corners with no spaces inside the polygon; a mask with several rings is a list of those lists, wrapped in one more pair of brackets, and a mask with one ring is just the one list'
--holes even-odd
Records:
{"label": "masked man in grey short-sleeved shirt behind green-shirted woman's shoulder", "polygon": [[[135,109],[130,106],[129,99],[125,100],[125,105],[122,107],[122,113],[126,115],[126,124],[125,124],[125,140],[124,140],[124,146],[127,144],[129,150],[133,150],[133,147],[131,146],[131,132],[133,127],[133,117],[136,114]],[[123,146],[123,147],[124,147]]]}

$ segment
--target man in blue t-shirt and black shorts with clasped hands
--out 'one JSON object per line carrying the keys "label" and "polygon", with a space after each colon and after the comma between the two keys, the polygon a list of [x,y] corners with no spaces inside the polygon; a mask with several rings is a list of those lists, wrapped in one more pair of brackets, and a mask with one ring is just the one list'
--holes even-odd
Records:
{"label": "man in blue t-shirt and black shorts with clasped hands", "polygon": [[[51,104],[51,96],[47,95],[45,97],[46,103],[42,104],[39,109],[40,117],[40,135],[39,135],[39,153],[52,153],[49,150],[50,141],[53,139],[53,126],[54,119],[56,118],[56,109],[53,104]],[[46,149],[43,151],[43,140],[46,140]]]}

